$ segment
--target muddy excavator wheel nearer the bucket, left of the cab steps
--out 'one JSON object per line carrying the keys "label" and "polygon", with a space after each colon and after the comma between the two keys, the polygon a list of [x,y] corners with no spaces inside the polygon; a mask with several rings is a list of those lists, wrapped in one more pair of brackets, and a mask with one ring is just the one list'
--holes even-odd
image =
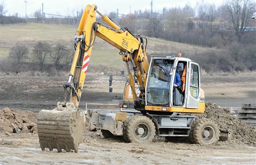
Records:
{"label": "muddy excavator wheel nearer the bucket, left of the cab steps", "polygon": [[123,123],[123,138],[132,143],[150,143],[155,137],[155,124],[149,117],[134,115]]}

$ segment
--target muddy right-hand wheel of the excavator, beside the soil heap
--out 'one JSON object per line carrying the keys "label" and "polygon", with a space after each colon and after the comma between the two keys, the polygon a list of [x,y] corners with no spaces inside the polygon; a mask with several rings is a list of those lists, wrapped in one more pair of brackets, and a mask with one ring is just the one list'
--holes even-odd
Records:
{"label": "muddy right-hand wheel of the excavator, beside the soil heap", "polygon": [[209,119],[198,119],[192,123],[190,138],[194,144],[208,145],[219,141],[218,125]]}

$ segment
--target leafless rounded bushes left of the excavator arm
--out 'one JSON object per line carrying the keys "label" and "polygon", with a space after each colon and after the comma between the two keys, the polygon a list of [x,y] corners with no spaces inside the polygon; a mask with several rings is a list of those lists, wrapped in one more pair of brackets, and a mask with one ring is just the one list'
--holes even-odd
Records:
{"label": "leafless rounded bushes left of the excavator arm", "polygon": [[[2,62],[2,71],[21,72],[29,70],[51,71],[67,70],[72,62],[74,48],[71,43],[58,42],[50,45],[47,42],[38,41],[30,50],[24,43],[16,43],[9,53],[7,61],[11,61],[11,67]],[[6,64],[9,65],[9,64]]]}

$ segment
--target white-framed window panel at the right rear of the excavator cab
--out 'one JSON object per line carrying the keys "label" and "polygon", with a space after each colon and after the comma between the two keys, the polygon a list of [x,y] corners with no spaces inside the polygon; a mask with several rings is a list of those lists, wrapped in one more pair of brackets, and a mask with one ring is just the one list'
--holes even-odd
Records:
{"label": "white-framed window panel at the right rear of the excavator cab", "polygon": [[200,73],[197,63],[190,62],[187,83],[187,108],[197,108],[200,98]]}

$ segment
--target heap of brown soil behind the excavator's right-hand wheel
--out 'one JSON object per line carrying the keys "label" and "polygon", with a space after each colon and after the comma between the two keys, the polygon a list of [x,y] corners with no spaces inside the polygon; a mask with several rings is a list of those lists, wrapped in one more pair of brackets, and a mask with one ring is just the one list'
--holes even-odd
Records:
{"label": "heap of brown soil behind the excavator's right-hand wheel", "polygon": [[199,118],[208,118],[218,124],[221,132],[231,132],[231,139],[225,143],[247,144],[256,146],[256,131],[254,127],[241,122],[233,116],[228,108],[219,108],[215,103],[207,102],[205,112]]}

